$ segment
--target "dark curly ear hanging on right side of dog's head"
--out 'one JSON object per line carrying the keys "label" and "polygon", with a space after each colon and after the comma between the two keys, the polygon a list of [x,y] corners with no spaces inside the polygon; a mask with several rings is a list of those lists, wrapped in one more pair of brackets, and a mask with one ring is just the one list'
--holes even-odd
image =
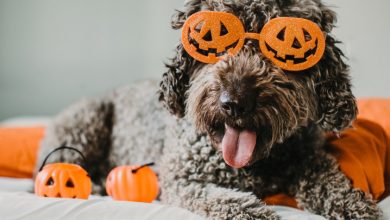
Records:
{"label": "dark curly ear hanging on right side of dog's head", "polygon": [[351,126],[356,118],[356,100],[351,91],[348,65],[338,42],[327,36],[323,59],[318,64],[316,93],[318,97],[319,125],[326,131],[339,132]]}

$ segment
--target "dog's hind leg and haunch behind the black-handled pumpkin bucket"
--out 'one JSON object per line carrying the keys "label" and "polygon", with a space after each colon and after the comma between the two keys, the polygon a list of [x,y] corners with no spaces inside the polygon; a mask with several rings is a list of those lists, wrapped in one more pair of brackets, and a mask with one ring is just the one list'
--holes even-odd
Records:
{"label": "dog's hind leg and haunch behind the black-handled pumpkin bucket", "polygon": [[66,145],[80,150],[86,158],[70,150],[53,153],[49,162],[69,162],[82,165],[93,181],[93,192],[103,193],[105,176],[109,172],[108,153],[112,128],[112,104],[102,100],[83,100],[60,113],[49,125],[41,144],[37,168],[55,148]]}

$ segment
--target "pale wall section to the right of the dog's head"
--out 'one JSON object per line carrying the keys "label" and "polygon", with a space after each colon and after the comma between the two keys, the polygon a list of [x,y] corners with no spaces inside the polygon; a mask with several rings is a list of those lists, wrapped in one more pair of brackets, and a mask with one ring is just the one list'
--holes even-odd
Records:
{"label": "pale wall section to the right of the dog's head", "polygon": [[343,41],[357,97],[390,97],[390,1],[326,0],[338,14],[334,35]]}

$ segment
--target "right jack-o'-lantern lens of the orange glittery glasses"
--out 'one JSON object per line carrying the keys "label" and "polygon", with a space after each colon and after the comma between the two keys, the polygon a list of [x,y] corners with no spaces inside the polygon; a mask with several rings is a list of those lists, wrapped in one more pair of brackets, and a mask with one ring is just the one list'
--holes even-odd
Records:
{"label": "right jack-o'-lantern lens of the orange glittery glasses", "polygon": [[312,21],[280,17],[270,20],[260,33],[262,53],[282,69],[299,71],[312,67],[325,51],[325,37]]}

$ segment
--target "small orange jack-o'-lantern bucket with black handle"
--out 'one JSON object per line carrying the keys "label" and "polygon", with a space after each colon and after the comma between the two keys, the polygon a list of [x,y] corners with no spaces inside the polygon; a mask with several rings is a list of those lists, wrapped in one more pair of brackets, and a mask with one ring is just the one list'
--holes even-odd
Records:
{"label": "small orange jack-o'-lantern bucket with black handle", "polygon": [[63,149],[76,151],[85,161],[83,154],[75,148],[62,146],[54,149],[46,156],[36,176],[35,194],[43,197],[88,199],[92,190],[91,178],[81,166],[69,163],[46,165],[52,153]]}

